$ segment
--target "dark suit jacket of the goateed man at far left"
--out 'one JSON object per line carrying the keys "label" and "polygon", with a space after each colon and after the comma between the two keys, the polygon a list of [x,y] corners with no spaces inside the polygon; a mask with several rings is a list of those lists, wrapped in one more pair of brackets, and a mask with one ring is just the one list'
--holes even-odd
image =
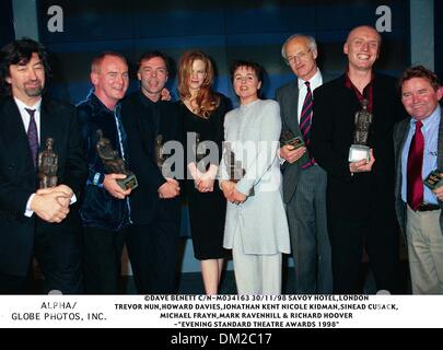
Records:
{"label": "dark suit jacket of the goateed man at far left", "polygon": [[[31,218],[24,215],[27,200],[37,189],[37,174],[12,97],[0,102],[0,272],[24,276],[30,267],[35,230],[77,228],[79,215],[75,205],[59,224],[44,222],[35,213]],[[48,137],[55,139],[54,151],[58,154],[58,184],[71,187],[79,200],[88,167],[73,106],[43,98],[40,147]]]}

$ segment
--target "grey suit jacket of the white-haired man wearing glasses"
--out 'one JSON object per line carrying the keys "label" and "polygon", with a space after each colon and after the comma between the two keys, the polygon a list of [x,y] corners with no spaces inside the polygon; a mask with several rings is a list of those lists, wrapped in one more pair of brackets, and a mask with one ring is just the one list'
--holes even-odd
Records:
{"label": "grey suit jacket of the white-haired man wearing glasses", "polygon": [[[329,81],[330,77],[322,75],[323,82]],[[294,136],[302,136],[299,125],[299,80],[295,79],[288,84],[280,86],[276,92],[276,100],[280,105],[281,132],[292,131]],[[290,202],[295,192],[300,179],[302,165],[308,161],[307,154],[298,162],[289,164],[284,162],[283,171],[283,199]]]}

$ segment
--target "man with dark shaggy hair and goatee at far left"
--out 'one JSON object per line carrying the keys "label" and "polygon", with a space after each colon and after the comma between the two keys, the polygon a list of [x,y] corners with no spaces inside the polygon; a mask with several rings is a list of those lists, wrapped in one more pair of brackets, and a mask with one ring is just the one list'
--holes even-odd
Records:
{"label": "man with dark shaggy hair and goatee at far left", "polygon": [[[46,291],[80,293],[81,225],[77,205],[86,176],[73,106],[43,96],[47,52],[32,39],[0,52],[0,293],[23,293],[33,254]],[[38,189],[38,144],[53,138],[58,186]]]}

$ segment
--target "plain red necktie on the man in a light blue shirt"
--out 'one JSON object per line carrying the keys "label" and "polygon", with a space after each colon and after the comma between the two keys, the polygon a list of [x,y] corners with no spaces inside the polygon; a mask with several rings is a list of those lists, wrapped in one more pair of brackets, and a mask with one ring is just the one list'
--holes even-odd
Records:
{"label": "plain red necktie on the man in a light blue shirt", "polygon": [[413,210],[417,210],[423,202],[423,179],[421,170],[423,165],[424,139],[423,133],[421,133],[422,126],[423,124],[420,120],[416,122],[416,133],[410,141],[408,153],[407,196],[408,205]]}

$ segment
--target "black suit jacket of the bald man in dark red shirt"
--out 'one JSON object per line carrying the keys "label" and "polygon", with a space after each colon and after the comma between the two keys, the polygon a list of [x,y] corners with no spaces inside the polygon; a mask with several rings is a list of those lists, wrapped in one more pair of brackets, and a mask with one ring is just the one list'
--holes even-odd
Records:
{"label": "black suit jacket of the bald man in dark red shirt", "polygon": [[375,74],[373,115],[369,145],[375,163],[371,172],[349,171],[349,148],[353,143],[354,115],[361,105],[345,86],[345,75],[314,91],[311,151],[327,172],[328,218],[366,220],[377,213],[394,213],[394,124],[404,117],[394,78]]}

